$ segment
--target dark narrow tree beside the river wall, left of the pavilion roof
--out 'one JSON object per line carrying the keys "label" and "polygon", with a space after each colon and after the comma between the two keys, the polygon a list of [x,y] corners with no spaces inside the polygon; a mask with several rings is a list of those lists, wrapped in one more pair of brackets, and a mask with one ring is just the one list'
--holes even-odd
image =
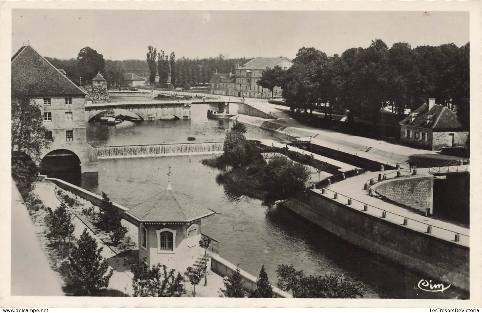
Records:
{"label": "dark narrow tree beside the river wall, left of the pavilion roof", "polygon": [[123,213],[110,201],[107,193],[102,191],[102,203],[99,207],[99,224],[106,231],[112,231],[111,240],[114,244],[127,233],[127,228],[122,226]]}

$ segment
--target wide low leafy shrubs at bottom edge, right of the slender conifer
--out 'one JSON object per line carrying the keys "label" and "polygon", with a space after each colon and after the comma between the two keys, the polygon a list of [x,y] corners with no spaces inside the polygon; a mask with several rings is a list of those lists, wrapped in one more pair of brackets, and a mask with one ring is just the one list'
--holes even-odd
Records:
{"label": "wide low leafy shrubs at bottom edge, right of the slender conifer", "polygon": [[349,282],[339,274],[305,275],[296,271],[293,265],[278,265],[277,286],[292,291],[294,298],[362,298],[362,283]]}

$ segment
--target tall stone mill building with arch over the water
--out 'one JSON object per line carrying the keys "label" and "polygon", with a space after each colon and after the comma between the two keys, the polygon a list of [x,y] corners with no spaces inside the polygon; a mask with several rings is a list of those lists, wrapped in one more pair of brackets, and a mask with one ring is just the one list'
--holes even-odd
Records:
{"label": "tall stone mill building with arch over the water", "polygon": [[30,45],[13,55],[11,83],[12,101],[27,97],[40,108],[49,141],[40,155],[41,173],[97,172],[97,152],[86,137],[85,91]]}

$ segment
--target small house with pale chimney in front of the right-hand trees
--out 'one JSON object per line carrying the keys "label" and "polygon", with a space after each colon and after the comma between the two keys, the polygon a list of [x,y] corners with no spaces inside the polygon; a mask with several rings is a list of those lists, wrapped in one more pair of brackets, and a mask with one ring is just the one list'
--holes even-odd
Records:
{"label": "small house with pale chimney in front of the right-hand trees", "polygon": [[428,99],[402,120],[400,142],[425,150],[443,147],[466,147],[469,132],[462,128],[455,112]]}

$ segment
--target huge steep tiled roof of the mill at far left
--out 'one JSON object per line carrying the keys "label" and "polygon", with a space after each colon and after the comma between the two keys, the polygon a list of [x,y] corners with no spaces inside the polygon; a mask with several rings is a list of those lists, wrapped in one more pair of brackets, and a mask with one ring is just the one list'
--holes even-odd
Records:
{"label": "huge steep tiled roof of the mill at far left", "polygon": [[13,55],[11,80],[13,96],[85,95],[31,46],[23,46]]}

